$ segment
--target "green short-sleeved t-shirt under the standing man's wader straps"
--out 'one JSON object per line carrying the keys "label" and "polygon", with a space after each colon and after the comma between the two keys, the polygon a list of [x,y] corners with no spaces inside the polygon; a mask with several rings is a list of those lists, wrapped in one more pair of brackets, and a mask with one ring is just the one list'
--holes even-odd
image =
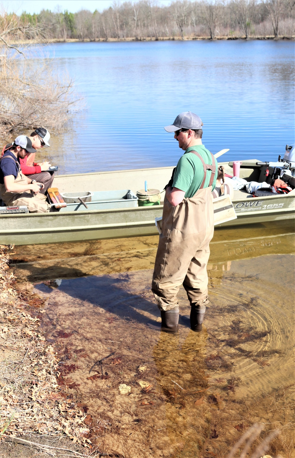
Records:
{"label": "green short-sleeved t-shirt under the standing man's wader straps", "polygon": [[[195,145],[188,148],[184,155],[178,161],[176,170],[173,178],[172,187],[181,189],[185,192],[184,197],[193,197],[195,193],[200,189],[204,178],[204,168],[203,164],[200,161],[200,158],[191,151],[196,151],[202,156],[205,164],[212,164],[212,157],[210,151],[208,151],[204,145]],[[215,189],[216,179],[217,179],[217,161],[216,159],[216,172],[215,177],[212,183],[212,191]],[[204,183],[204,188],[209,186],[211,178],[211,170],[207,170],[206,179]]]}

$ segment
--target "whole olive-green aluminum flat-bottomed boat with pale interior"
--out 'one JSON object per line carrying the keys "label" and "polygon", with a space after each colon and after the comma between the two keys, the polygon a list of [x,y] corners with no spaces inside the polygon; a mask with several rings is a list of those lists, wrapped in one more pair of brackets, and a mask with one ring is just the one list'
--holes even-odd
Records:
{"label": "whole olive-green aluminum flat-bottomed boat with pale interior", "polygon": [[[243,161],[240,177],[258,181],[260,167],[257,159]],[[233,174],[232,162],[219,163],[225,172]],[[61,193],[83,190],[116,191],[137,190],[144,187],[162,190],[168,183],[173,167],[121,170],[88,174],[58,175],[54,186]],[[161,194],[163,200],[164,192]],[[246,191],[235,191],[232,200],[237,213],[233,219],[220,226],[263,223],[295,218],[295,189],[289,194],[249,198]],[[163,205],[150,207],[121,207],[75,210],[57,213],[16,213],[0,215],[0,244],[27,245],[79,240],[112,239],[138,235],[158,234],[155,218],[162,216]],[[82,211],[83,207],[83,211]],[[80,210],[79,210],[80,208]],[[218,227],[218,226],[217,226]]]}

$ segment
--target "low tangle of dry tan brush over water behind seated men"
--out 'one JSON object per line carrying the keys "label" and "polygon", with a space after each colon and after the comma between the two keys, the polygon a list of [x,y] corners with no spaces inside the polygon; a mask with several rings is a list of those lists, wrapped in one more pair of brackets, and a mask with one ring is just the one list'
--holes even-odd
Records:
{"label": "low tangle of dry tan brush over water behind seated men", "polygon": [[51,132],[62,131],[75,103],[73,82],[54,74],[50,60],[32,64],[7,52],[0,59],[0,135],[40,125]]}

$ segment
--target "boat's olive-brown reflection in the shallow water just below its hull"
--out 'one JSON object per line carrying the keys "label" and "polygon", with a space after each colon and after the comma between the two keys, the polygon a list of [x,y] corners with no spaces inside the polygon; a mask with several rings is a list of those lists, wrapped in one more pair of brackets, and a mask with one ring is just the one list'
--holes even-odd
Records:
{"label": "boat's olive-brown reflection in the shallow water just below its hull", "polygon": [[[278,221],[215,229],[208,270],[226,270],[238,259],[288,254],[294,249],[294,222]],[[15,274],[32,282],[105,275],[153,268],[158,235],[21,245],[11,255]],[[218,267],[217,267],[218,265]]]}

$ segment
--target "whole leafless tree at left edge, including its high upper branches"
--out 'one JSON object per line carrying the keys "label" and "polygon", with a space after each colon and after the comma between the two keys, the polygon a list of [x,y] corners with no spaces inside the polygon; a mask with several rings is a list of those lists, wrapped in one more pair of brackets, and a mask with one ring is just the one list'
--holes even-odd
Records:
{"label": "whole leafless tree at left edge, including its high upper branches", "polygon": [[[24,23],[16,15],[4,14],[0,21],[0,40],[4,44],[0,59],[0,135],[9,136],[21,129],[46,125],[61,131],[74,103],[72,81],[58,76],[48,59],[40,59],[42,50],[19,49],[11,42],[31,39],[43,41],[38,26]],[[20,56],[21,54],[21,56]]]}

